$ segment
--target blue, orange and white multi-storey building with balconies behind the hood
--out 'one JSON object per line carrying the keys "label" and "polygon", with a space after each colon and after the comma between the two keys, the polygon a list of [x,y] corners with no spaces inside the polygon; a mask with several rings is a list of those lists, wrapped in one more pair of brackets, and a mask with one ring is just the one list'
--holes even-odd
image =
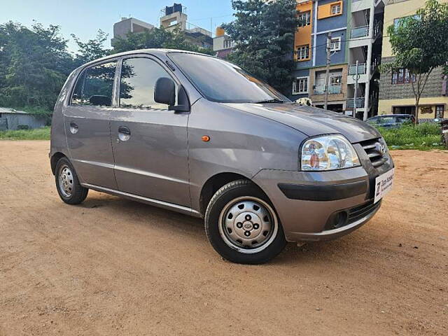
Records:
{"label": "blue, orange and white multi-storey building with balconies behind the hood", "polygon": [[329,45],[328,109],[363,120],[372,116],[379,92],[383,0],[297,0],[297,10],[292,98],[309,97],[323,107]]}

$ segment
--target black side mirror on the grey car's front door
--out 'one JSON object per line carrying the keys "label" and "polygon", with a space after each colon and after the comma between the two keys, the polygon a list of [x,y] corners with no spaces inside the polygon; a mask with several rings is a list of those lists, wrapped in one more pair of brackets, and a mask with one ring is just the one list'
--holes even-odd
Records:
{"label": "black side mirror on the grey car's front door", "polygon": [[161,77],[155,82],[154,101],[167,104],[168,109],[176,112],[189,112],[190,101],[186,90],[179,85],[176,104],[176,84],[172,78]]}

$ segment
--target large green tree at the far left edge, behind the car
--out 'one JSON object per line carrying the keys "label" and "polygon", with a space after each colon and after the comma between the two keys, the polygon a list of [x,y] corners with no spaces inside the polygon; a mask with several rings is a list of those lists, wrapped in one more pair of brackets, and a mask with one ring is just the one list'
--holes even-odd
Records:
{"label": "large green tree at the far left edge, behind the car", "polygon": [[59,27],[0,25],[0,105],[52,109],[73,60]]}

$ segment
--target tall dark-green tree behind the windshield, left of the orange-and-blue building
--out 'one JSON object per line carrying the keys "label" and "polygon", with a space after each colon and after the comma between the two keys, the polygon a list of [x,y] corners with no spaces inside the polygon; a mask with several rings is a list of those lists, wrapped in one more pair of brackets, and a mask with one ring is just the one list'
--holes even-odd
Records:
{"label": "tall dark-green tree behind the windshield, left of the orange-and-blue building", "polygon": [[223,25],[235,41],[228,59],[285,94],[295,69],[296,6],[295,0],[232,0],[236,20]]}

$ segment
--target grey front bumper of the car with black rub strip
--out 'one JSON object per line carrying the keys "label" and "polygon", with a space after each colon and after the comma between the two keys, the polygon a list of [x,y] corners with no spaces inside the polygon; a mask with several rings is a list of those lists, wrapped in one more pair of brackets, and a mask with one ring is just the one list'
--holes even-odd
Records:
{"label": "grey front bumper of the car with black rub strip", "polygon": [[[372,200],[374,179],[392,169],[393,161],[388,156],[384,165],[373,168],[368,158],[360,159],[363,167],[331,172],[263,169],[253,177],[274,204],[286,240],[337,239],[360,228],[377,213],[381,202],[374,204]],[[346,220],[342,225],[332,225],[339,214]]]}

